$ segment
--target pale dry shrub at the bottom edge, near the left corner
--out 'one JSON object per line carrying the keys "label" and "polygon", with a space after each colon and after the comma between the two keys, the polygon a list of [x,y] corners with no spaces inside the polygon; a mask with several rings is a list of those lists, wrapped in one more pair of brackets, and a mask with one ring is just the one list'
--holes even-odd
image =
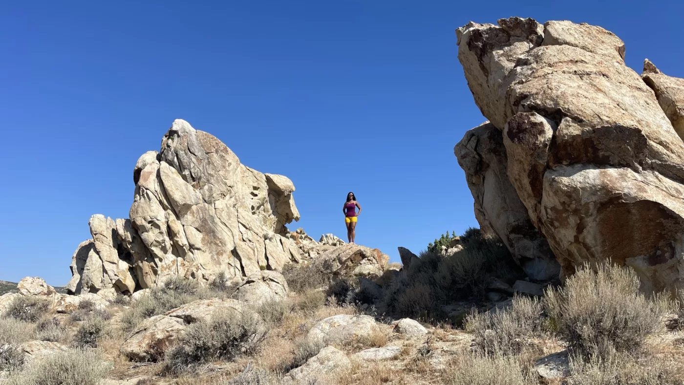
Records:
{"label": "pale dry shrub at the bottom edge, near the left corner", "polygon": [[10,375],[7,385],[98,385],[107,371],[109,364],[94,349],[60,351],[36,358]]}

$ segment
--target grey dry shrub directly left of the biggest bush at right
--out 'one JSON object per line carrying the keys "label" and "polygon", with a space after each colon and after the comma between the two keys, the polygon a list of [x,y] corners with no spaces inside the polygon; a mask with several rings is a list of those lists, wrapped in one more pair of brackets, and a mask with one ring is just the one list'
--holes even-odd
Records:
{"label": "grey dry shrub directly left of the biggest bush at right", "polygon": [[527,338],[547,334],[544,305],[536,298],[514,297],[512,306],[466,317],[475,347],[484,354],[519,354]]}

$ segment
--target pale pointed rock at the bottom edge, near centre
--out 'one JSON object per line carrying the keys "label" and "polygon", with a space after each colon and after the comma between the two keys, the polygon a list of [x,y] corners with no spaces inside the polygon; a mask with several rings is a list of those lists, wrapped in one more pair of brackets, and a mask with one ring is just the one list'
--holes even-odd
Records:
{"label": "pale pointed rock at the bottom edge, near centre", "polygon": [[301,367],[292,369],[286,377],[298,384],[314,384],[330,375],[337,375],[352,369],[352,362],[345,354],[332,346],[324,347],[309,358]]}

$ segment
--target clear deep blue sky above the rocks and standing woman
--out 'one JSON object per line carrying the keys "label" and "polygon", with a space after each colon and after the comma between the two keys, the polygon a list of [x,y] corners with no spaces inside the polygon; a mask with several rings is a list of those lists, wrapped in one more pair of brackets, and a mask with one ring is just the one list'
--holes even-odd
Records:
{"label": "clear deep blue sky above the rocks and standing woman", "polygon": [[0,280],[65,284],[94,213],[128,217],[133,165],[183,118],[295,184],[298,224],[398,260],[476,226],[453,146],[484,121],[454,29],[508,16],[601,25],[684,77],[681,2],[5,1]]}

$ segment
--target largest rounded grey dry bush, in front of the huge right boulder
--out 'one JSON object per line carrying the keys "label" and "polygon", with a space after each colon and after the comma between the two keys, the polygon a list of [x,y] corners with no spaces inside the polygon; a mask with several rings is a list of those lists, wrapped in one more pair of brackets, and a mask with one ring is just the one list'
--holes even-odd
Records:
{"label": "largest rounded grey dry bush, in front of the huge right boulder", "polygon": [[546,302],[551,326],[570,349],[601,357],[639,351],[670,308],[664,297],[652,300],[639,292],[633,270],[613,265],[581,267],[565,287],[547,291]]}

